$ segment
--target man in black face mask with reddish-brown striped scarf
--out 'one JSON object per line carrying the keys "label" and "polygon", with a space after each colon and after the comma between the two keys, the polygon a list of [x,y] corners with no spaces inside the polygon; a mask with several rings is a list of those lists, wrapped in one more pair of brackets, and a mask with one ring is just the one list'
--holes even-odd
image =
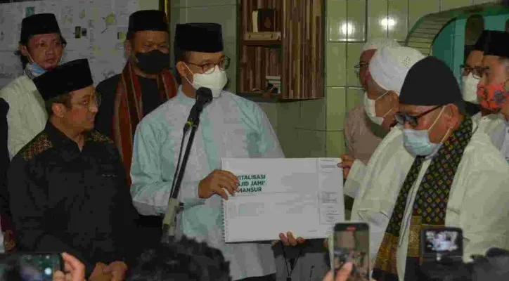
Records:
{"label": "man in black face mask with reddish-brown striped scarf", "polygon": [[[152,110],[176,96],[176,83],[169,72],[169,32],[165,12],[137,11],[129,17],[125,49],[127,64],[117,74],[97,85],[103,97],[96,116],[96,129],[115,142],[131,185],[134,131]],[[158,242],[162,218],[141,216],[143,237]]]}

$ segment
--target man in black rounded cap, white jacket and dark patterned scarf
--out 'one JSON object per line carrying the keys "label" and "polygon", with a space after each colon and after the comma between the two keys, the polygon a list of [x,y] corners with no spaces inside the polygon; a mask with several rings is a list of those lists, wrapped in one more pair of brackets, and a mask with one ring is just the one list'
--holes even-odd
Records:
{"label": "man in black rounded cap, white jacket and dark patterned scarf", "polygon": [[380,144],[392,149],[375,151],[352,210],[352,220],[371,226],[373,277],[414,280],[427,226],[462,228],[465,261],[509,247],[509,166],[465,115],[456,78],[442,61],[413,65],[395,117],[401,126]]}

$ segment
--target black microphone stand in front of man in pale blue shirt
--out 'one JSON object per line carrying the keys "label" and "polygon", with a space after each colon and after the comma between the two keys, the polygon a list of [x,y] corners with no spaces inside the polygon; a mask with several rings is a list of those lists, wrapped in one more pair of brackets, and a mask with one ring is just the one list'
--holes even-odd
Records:
{"label": "black microphone stand in front of man in pale blue shirt", "polygon": [[189,158],[189,152],[191,152],[191,146],[193,146],[193,141],[195,138],[196,129],[198,129],[198,124],[200,124],[200,113],[203,110],[203,107],[196,107],[195,109],[196,117],[193,121],[186,122],[186,125],[183,128],[183,136],[186,136],[186,133],[191,126],[191,135],[189,135],[188,143],[186,145],[186,151],[184,152],[182,164],[179,169],[179,174],[176,176],[176,183],[174,186],[174,190],[172,190],[169,195],[168,200],[168,209],[166,210],[165,218],[162,221],[162,240],[163,243],[169,243],[175,239],[175,231],[176,231],[176,215],[179,214],[180,211],[183,210],[183,204],[177,200],[179,196],[179,190],[182,183],[183,174],[186,171],[186,165]]}

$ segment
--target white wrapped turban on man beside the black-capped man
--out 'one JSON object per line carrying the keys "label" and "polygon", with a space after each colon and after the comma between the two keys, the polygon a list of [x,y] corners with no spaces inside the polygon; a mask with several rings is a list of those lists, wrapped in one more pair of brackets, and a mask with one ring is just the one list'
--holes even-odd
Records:
{"label": "white wrapped turban on man beside the black-capped man", "polygon": [[399,96],[408,70],[425,56],[415,48],[385,47],[376,51],[369,63],[371,77],[386,91]]}

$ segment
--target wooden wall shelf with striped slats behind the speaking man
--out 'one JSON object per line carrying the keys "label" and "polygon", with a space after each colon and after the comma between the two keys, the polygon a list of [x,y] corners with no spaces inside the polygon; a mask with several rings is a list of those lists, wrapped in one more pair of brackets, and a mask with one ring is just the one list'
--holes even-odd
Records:
{"label": "wooden wall shelf with striped slats behind the speaking man", "polygon": [[[249,99],[309,100],[325,96],[325,0],[240,0],[238,7],[238,93]],[[245,40],[252,12],[276,11],[273,30],[281,40]],[[267,76],[281,77],[276,96],[250,93],[266,89]]]}

